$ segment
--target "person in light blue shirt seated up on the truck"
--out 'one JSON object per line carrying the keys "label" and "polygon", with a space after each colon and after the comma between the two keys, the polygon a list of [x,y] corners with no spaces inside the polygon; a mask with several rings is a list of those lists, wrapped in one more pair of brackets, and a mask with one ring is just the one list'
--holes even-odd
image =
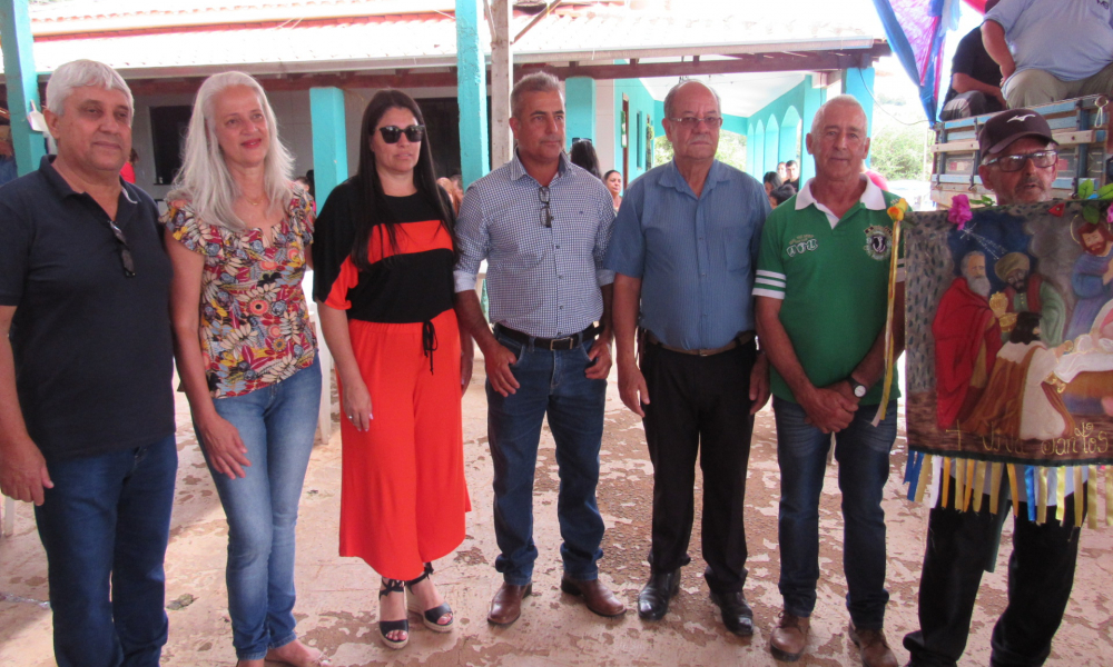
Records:
{"label": "person in light blue shirt seated up on the truck", "polygon": [[985,14],[982,41],[1011,109],[1113,90],[1109,0],[1002,0]]}

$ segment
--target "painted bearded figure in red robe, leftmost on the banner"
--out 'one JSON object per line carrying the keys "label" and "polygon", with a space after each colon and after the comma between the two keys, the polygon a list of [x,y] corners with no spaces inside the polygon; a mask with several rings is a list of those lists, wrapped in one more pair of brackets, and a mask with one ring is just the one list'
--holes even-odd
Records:
{"label": "painted bearded figure in red robe, leftmost on the banner", "polygon": [[939,428],[969,416],[985,390],[1002,346],[1001,326],[989,308],[985,253],[972,250],[959,262],[962,275],[943,295],[932,322]]}

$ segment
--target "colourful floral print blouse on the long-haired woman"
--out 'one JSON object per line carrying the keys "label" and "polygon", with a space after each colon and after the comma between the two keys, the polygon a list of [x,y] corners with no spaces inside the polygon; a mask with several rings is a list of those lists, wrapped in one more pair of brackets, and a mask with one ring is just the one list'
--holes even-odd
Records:
{"label": "colourful floral print blouse on the long-haired woman", "polygon": [[176,201],[161,222],[205,257],[200,344],[214,398],[243,396],[313,364],[316,339],[302,278],[313,241],[313,200],[294,190],[273,230],[234,231]]}

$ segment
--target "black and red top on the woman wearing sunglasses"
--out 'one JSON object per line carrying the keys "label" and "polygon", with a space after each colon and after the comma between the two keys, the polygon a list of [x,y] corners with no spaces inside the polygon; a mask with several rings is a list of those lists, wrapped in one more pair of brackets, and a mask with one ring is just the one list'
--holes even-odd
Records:
{"label": "black and red top on the woman wearing sunglasses", "polygon": [[[390,218],[398,222],[397,249],[392,248],[386,227],[377,225],[367,248],[371,270],[359,271],[352,260],[355,213],[362,206],[356,187],[348,180],[328,195],[314,233],[313,296],[347,310],[348,319],[427,323],[452,308],[452,237],[421,193],[384,199]],[[452,208],[446,209],[451,216]],[[451,227],[454,220],[449,222]]]}

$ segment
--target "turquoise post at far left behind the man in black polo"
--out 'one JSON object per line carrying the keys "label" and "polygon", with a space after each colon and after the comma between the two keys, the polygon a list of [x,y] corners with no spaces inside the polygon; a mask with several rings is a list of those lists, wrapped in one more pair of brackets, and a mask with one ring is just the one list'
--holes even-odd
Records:
{"label": "turquoise post at far left behind the man in black polo", "polygon": [[42,132],[33,131],[27,122],[31,103],[39,104],[39,76],[35,71],[35,54],[31,51],[33,40],[28,0],[0,0],[0,44],[3,47],[16,168],[23,176],[38,169],[42,156],[47,155]]}

